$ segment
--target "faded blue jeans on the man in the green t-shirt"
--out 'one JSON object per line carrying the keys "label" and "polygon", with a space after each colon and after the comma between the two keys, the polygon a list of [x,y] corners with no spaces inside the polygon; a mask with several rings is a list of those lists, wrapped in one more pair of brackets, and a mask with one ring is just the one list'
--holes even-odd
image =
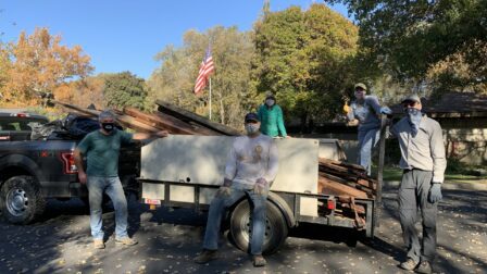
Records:
{"label": "faded blue jeans on the man in the green t-shirt", "polygon": [[127,200],[118,177],[88,176],[91,236],[103,239],[101,203],[105,192],[115,208],[115,237],[127,237]]}

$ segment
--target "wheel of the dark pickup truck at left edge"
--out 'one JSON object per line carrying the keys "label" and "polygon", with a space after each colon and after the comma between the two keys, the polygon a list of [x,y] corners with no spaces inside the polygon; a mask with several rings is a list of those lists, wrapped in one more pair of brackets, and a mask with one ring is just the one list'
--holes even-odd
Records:
{"label": "wheel of the dark pickup truck at left edge", "polygon": [[0,190],[0,209],[12,224],[28,224],[46,208],[39,184],[32,176],[11,177]]}

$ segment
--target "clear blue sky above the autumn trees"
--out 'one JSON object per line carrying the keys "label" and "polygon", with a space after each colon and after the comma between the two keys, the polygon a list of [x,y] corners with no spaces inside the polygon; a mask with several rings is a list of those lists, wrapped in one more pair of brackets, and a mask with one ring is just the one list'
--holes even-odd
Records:
{"label": "clear blue sky above the autumn trees", "polygon": [[[91,58],[95,74],[129,71],[148,78],[166,46],[183,43],[189,29],[204,33],[216,25],[249,30],[263,0],[7,0],[0,1],[0,39],[15,41],[22,30],[48,27],[61,45],[78,45]],[[271,11],[307,9],[312,0],[271,0]],[[323,2],[323,1],[317,1]],[[348,16],[342,5],[330,7]],[[202,57],[201,57],[202,58]]]}

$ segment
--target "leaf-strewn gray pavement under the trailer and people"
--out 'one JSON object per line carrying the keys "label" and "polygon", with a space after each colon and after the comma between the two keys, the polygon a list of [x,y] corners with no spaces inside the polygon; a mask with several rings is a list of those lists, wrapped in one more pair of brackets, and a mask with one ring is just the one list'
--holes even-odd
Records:
{"label": "leaf-strewn gray pavement under the trailer and people", "polygon": [[[439,207],[437,273],[487,273],[487,191],[447,187]],[[480,189],[480,190],[478,190]],[[104,250],[93,250],[88,211],[78,200],[50,201],[42,220],[28,226],[0,222],[0,273],[405,273],[397,219],[396,188],[384,189],[377,237],[345,244],[347,233],[315,225],[291,232],[284,247],[254,269],[246,253],[225,237],[220,260],[195,264],[200,251],[205,214],[129,203],[129,234],[134,247],[115,246],[113,212],[103,214],[109,237]]]}

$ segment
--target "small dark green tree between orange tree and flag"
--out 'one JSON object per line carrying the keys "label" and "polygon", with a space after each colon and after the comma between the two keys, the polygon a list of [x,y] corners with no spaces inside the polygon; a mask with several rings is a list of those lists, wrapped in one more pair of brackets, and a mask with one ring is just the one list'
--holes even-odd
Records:
{"label": "small dark green tree between orange tree and flag", "polygon": [[139,78],[129,72],[105,74],[103,78],[103,96],[108,107],[147,109],[148,90],[143,78]]}

